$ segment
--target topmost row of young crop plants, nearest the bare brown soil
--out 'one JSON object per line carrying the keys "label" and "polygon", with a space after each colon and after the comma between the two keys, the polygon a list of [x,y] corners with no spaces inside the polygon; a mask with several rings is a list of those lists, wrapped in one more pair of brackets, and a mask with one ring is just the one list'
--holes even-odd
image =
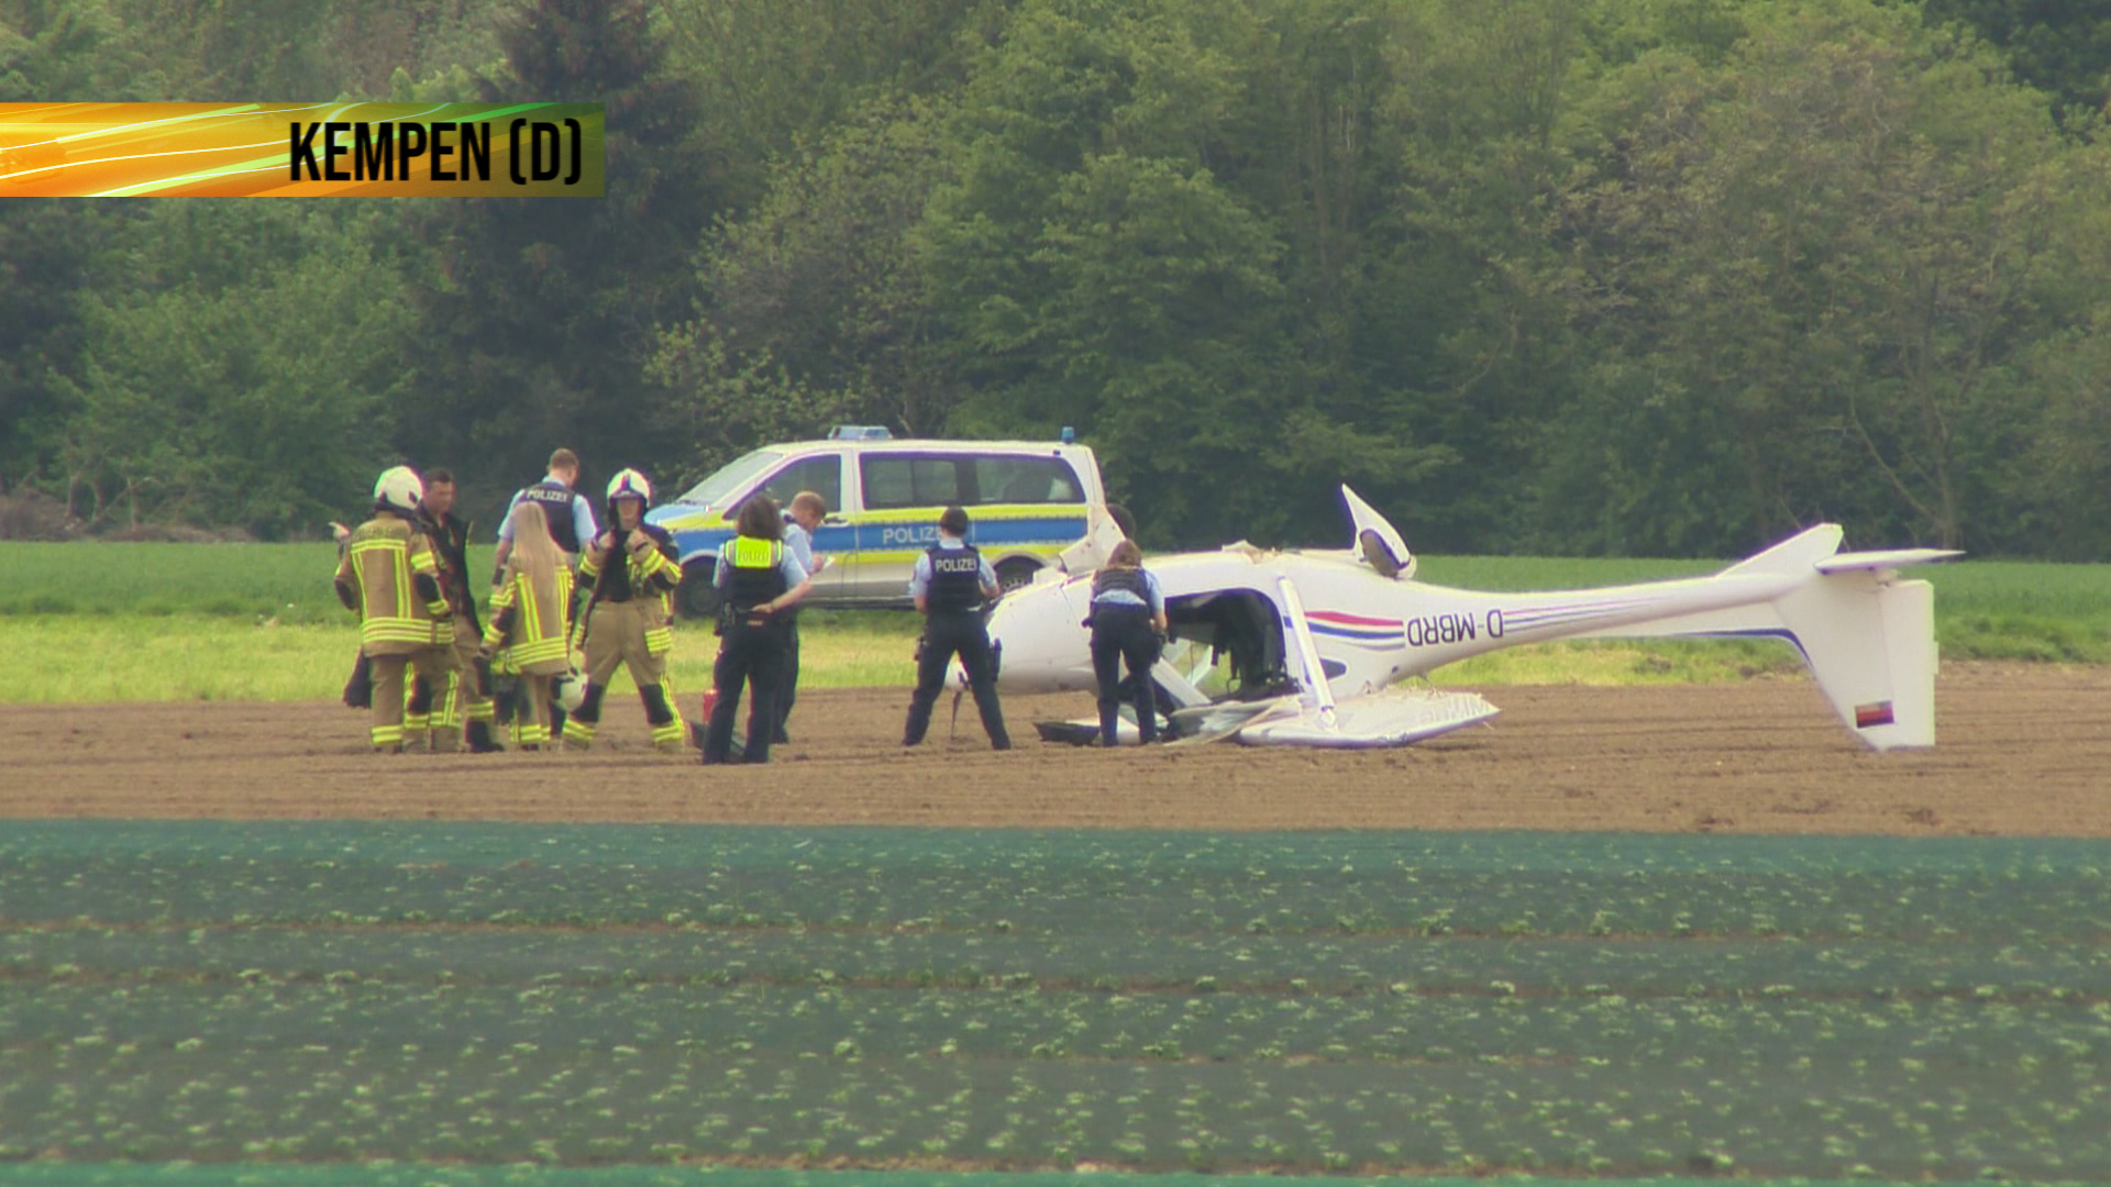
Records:
{"label": "topmost row of young crop plants, nearest the bare brown soil", "polygon": [[[0,843],[4,845],[4,843]],[[1117,858],[1119,860],[1119,858]],[[1165,893],[1178,881],[1180,893]],[[887,934],[1788,936],[2056,940],[2111,934],[2111,868],[1328,868],[1169,864],[1108,870],[1018,860],[825,858],[743,866],[507,864],[175,853],[25,855],[0,847],[15,919],[114,923],[511,923]]]}

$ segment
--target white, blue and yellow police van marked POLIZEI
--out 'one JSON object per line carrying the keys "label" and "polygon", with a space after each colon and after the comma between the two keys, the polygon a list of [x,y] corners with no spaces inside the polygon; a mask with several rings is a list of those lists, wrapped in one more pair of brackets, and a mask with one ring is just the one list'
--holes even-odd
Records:
{"label": "white, blue and yellow police van marked POLIZEI", "polygon": [[1068,429],[1062,441],[929,441],[838,427],[825,441],[764,446],[646,513],[682,553],[682,613],[716,613],[711,566],[741,503],[768,494],[785,507],[800,490],[830,509],[813,534],[828,566],[806,598],[821,606],[906,606],[910,570],[937,543],[948,505],[967,509],[967,539],[1007,589],[1032,583],[1085,536],[1093,509],[1106,511],[1100,465]]}

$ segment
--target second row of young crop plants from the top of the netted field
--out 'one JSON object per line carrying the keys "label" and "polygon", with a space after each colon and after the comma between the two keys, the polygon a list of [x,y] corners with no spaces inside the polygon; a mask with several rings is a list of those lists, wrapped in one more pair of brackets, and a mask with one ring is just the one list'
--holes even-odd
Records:
{"label": "second row of young crop plants from the top of the netted field", "polygon": [[1482,997],[2103,1001],[2111,950],[2071,942],[975,936],[547,927],[36,927],[0,931],[0,967],[95,978],[325,976],[509,984],[859,984]]}

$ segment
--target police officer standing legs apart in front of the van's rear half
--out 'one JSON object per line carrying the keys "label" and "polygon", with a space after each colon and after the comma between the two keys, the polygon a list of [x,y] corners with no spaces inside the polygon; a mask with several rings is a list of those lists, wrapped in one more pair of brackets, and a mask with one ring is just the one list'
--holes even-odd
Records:
{"label": "police officer standing legs apart in front of the van's rear half", "polygon": [[967,543],[967,511],[948,507],[937,517],[937,543],[916,558],[910,598],[925,613],[925,636],[916,648],[916,693],[910,695],[910,720],[901,727],[901,746],[916,746],[931,729],[931,705],[946,684],[946,667],[961,657],[967,686],[975,693],[975,712],[990,735],[990,750],[1011,750],[1005,733],[1005,712],[996,703],[996,655],[990,653],[990,632],[982,625],[982,604],[996,598],[996,572]]}

